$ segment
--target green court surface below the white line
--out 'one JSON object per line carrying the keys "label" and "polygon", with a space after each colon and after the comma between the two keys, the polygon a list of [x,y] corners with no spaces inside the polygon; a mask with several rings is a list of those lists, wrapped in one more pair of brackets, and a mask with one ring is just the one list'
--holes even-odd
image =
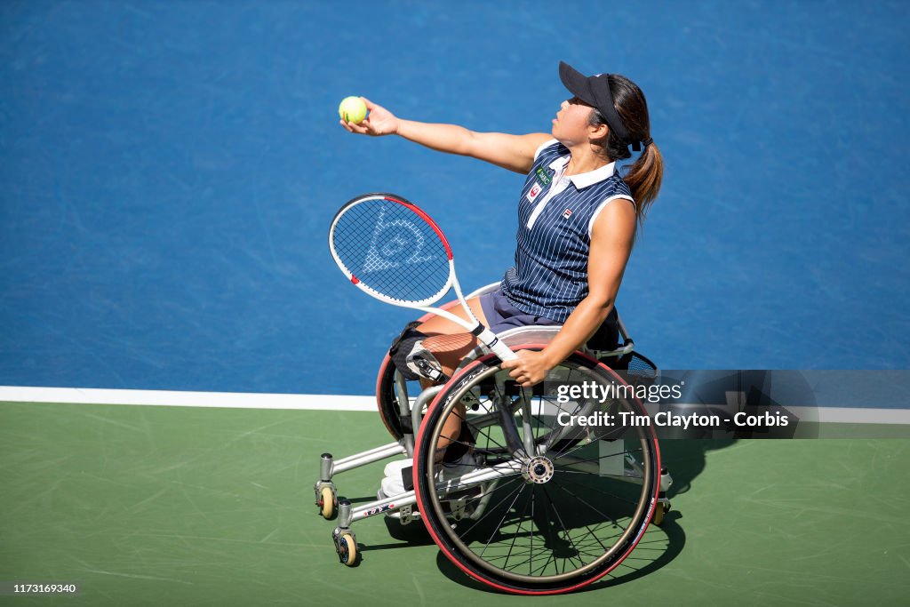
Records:
{"label": "green court surface below the white line", "polygon": [[[489,592],[381,516],[339,564],[319,454],[389,441],[376,414],[0,403],[2,604],[905,604],[910,440],[665,440],[673,510],[575,594]],[[382,464],[336,478],[375,497]],[[405,541],[408,540],[408,541]]]}

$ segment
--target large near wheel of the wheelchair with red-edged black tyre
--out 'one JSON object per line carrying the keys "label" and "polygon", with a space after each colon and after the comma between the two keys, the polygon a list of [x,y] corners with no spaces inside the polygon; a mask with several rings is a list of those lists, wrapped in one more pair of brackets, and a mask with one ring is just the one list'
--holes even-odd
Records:
{"label": "large near wheel of the wheelchair with red-edged black tyre", "polygon": [[[418,506],[440,550],[471,577],[518,594],[570,592],[642,538],[660,490],[657,438],[643,421],[603,417],[646,415],[633,395],[560,398],[560,386],[627,386],[597,360],[576,352],[534,389],[499,362],[474,361],[430,405],[415,449]],[[480,407],[462,416],[469,391]],[[450,415],[470,429],[457,438],[472,438],[458,462],[438,449],[440,438],[458,443],[443,430]]]}

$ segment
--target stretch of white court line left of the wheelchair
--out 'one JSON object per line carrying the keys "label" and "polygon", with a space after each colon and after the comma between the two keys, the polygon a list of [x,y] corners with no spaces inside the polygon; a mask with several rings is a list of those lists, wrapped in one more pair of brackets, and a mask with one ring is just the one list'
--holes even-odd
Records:
{"label": "stretch of white court line left of the wheelchair", "polygon": [[253,392],[182,392],[157,389],[30,388],[0,386],[0,401],[60,402],[95,405],[158,405],[227,409],[298,409],[375,411],[376,398],[335,394],[258,394]]}

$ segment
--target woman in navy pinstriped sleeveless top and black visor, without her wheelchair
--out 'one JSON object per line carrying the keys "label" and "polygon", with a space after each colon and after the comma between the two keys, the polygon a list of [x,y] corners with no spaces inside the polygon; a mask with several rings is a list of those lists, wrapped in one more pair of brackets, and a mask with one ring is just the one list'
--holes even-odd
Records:
{"label": "woman in navy pinstriped sleeveless top and black visor, without her wheelchair", "polygon": [[[616,74],[583,76],[560,63],[572,97],[561,103],[550,133],[477,133],[462,126],[405,120],[369,99],[369,117],[341,121],[351,133],[398,135],[431,149],[470,156],[527,174],[518,202],[515,266],[501,288],[469,300],[494,333],[523,325],[561,325],[540,352],[522,350],[503,368],[522,386],[547,372],[604,325],[615,342],[613,302],[640,226],[662,179],[662,158],[650,133],[641,89]],[[624,175],[619,160],[641,154]],[[643,147],[643,150],[642,150]],[[464,312],[452,309],[460,313]],[[474,348],[470,333],[441,317],[424,322],[423,341],[451,375]]]}

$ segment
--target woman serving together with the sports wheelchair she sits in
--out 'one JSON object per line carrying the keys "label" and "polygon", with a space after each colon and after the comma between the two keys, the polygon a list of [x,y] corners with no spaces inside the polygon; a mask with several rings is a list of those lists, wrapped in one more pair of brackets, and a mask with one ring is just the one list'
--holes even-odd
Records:
{"label": "woman serving together with the sports wheelchair she sits in", "polygon": [[[413,458],[387,466],[377,501],[356,507],[338,501],[333,538],[345,564],[356,562],[353,521],[386,513],[409,524],[419,516],[440,550],[475,579],[506,592],[571,592],[611,572],[669,507],[671,480],[650,426],[559,421],[647,415],[635,398],[563,399],[560,390],[629,386],[585,346],[634,359],[629,339],[614,350],[613,303],[662,177],[638,86],[618,75],[582,76],[565,64],[560,77],[571,98],[561,103],[550,133],[420,123],[366,99],[364,122],[341,122],[351,133],[398,135],[527,176],[515,265],[498,288],[468,298],[518,358],[479,355],[471,334],[438,316],[412,323],[396,339],[377,382],[380,417],[396,442],[320,459],[314,490],[330,518],[333,474],[402,453]],[[630,147],[641,154],[621,175],[616,163],[632,157]],[[543,338],[510,341],[531,333]],[[420,395],[411,401],[407,383],[418,378]],[[545,378],[557,389],[532,388]]]}

